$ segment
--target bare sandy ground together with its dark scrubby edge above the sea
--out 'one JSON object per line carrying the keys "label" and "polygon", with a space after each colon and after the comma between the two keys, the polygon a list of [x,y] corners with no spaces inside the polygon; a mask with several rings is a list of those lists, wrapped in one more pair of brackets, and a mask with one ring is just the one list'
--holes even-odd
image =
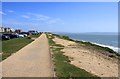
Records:
{"label": "bare sandy ground together with its dark scrubby edge above the sea", "polygon": [[70,58],[70,64],[99,77],[118,76],[119,55],[112,49],[101,47],[91,42],[73,40],[68,36],[54,36],[53,41],[64,46],[62,52],[63,55]]}

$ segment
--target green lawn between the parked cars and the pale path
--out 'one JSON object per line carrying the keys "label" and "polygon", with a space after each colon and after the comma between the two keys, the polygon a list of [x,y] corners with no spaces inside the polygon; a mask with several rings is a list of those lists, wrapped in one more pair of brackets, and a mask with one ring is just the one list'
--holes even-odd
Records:
{"label": "green lawn between the parked cars and the pale path", "polygon": [[[37,38],[39,36],[40,36],[40,34],[33,35],[32,38]],[[18,50],[20,50],[21,48],[26,46],[27,44],[31,43],[32,41],[34,41],[34,40],[28,39],[27,37],[15,38],[15,39],[3,41],[2,42],[2,52],[3,52],[2,60],[6,59],[7,57],[12,55],[13,53],[17,52]]]}

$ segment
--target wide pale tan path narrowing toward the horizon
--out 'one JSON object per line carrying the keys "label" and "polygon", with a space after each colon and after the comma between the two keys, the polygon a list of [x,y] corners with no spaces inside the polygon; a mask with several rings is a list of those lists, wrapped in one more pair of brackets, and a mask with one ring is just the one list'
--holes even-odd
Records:
{"label": "wide pale tan path narrowing toward the horizon", "polygon": [[53,77],[51,63],[48,39],[45,34],[42,34],[35,41],[2,61],[2,76]]}

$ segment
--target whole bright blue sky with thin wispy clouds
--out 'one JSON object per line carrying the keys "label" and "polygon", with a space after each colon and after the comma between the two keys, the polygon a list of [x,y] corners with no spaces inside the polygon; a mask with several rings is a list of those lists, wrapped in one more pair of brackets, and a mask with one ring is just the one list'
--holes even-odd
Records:
{"label": "whole bright blue sky with thin wispy clouds", "polygon": [[117,32],[117,2],[3,2],[3,26],[24,31]]}

